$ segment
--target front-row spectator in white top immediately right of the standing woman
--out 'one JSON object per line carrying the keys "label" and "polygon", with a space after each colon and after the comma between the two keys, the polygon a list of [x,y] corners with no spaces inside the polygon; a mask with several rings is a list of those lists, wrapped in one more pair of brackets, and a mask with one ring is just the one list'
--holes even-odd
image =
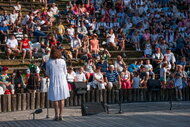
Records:
{"label": "front-row spectator in white top immediately right of the standing woman", "polygon": [[73,83],[76,81],[76,73],[73,71],[72,67],[68,67],[67,71],[67,82],[69,86],[69,90],[71,91],[73,88]]}

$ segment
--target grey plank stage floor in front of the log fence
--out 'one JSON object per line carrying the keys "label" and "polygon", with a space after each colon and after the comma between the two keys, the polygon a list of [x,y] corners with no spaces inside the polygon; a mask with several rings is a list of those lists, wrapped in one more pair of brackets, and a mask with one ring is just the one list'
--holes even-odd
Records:
{"label": "grey plank stage floor in front of the log fence", "polygon": [[64,120],[53,121],[53,109],[46,119],[46,109],[32,120],[32,111],[0,113],[0,127],[190,127],[190,102],[125,103],[124,113],[110,105],[110,114],[81,116],[80,107],[65,108]]}

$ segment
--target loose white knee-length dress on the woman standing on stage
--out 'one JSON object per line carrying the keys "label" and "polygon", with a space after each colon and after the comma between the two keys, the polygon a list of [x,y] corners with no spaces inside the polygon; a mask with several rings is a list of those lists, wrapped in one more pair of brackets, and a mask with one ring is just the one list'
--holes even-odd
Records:
{"label": "loose white knee-length dress on the woman standing on stage", "polygon": [[64,59],[49,59],[46,64],[46,74],[50,78],[49,100],[59,101],[70,97],[66,80],[67,67]]}

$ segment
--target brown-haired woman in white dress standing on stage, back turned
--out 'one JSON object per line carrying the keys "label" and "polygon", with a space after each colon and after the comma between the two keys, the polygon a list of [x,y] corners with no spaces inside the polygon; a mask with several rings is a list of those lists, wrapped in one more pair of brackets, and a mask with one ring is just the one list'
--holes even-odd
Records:
{"label": "brown-haired woman in white dress standing on stage, back turned", "polygon": [[50,59],[46,64],[46,74],[50,78],[48,99],[54,102],[54,120],[62,120],[64,99],[67,99],[70,93],[66,79],[66,62],[62,59],[61,50],[56,48],[51,50]]}

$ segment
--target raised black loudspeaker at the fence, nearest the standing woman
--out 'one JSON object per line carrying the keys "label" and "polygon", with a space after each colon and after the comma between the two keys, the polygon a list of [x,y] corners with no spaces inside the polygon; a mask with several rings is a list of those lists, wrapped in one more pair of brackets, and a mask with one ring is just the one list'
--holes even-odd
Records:
{"label": "raised black loudspeaker at the fence, nearest the standing woman", "polygon": [[86,82],[74,82],[73,83],[73,91],[76,94],[85,94],[87,91]]}

